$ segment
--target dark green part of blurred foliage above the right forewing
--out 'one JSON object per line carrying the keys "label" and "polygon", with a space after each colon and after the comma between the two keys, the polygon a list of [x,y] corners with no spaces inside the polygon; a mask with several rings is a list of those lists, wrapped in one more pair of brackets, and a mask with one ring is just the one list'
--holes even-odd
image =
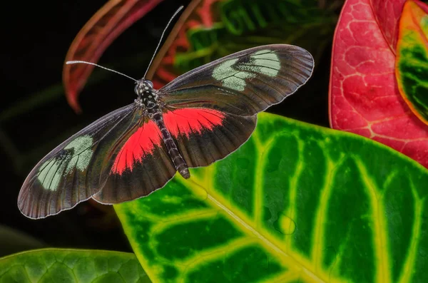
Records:
{"label": "dark green part of blurred foliage above the right forewing", "polygon": [[318,1],[229,0],[216,3],[218,21],[188,31],[191,50],[178,53],[180,73],[254,46],[288,43],[312,53],[317,62],[331,41],[337,16]]}

